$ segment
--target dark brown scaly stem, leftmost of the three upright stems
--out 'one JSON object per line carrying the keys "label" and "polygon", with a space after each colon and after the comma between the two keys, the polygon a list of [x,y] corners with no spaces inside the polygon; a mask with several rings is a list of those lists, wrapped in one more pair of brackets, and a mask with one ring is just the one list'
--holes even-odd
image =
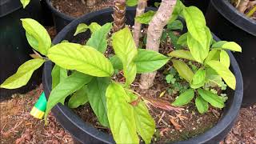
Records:
{"label": "dark brown scaly stem, leftmost of the three upright stems", "polygon": [[114,32],[125,27],[126,22],[126,0],[114,0]]}

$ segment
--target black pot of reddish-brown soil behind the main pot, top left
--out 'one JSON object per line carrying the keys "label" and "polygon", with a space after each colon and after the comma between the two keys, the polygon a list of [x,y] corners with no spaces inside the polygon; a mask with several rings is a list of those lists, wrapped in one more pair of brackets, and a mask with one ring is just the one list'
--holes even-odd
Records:
{"label": "black pot of reddish-brown soil behind the main pot, top left", "polygon": [[87,14],[90,11],[100,10],[112,6],[111,0],[79,0],[61,1],[46,0],[46,4],[54,17],[54,24],[57,32],[72,22],[75,18]]}

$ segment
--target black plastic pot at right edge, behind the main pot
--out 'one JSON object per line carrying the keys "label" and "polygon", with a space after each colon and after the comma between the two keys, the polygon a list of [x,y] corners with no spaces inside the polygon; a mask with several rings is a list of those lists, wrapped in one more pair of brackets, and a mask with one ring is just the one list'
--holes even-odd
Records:
{"label": "black plastic pot at right edge, behind the main pot", "polygon": [[256,103],[256,21],[239,13],[226,0],[212,0],[206,22],[219,38],[238,42],[242,46],[242,53],[234,54],[244,82],[242,106]]}

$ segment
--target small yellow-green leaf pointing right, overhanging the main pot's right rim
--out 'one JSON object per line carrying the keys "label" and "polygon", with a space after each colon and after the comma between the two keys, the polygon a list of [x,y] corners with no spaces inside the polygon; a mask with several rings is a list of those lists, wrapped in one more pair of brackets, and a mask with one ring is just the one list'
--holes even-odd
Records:
{"label": "small yellow-green leaf pointing right, overhanging the main pot's right rim", "polygon": [[214,43],[211,47],[242,52],[241,46],[239,46],[236,42],[219,41]]}

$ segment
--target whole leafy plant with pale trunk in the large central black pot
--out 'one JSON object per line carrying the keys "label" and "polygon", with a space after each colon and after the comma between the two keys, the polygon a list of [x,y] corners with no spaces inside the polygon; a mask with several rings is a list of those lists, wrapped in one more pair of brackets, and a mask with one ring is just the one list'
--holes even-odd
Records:
{"label": "whole leafy plant with pale trunk in the large central black pot", "polygon": [[[152,19],[147,30],[142,30],[147,31],[142,34],[143,39],[146,38],[145,43],[137,43],[134,41],[135,33],[141,30],[136,27],[139,26],[136,23],[146,22],[142,20],[147,19],[146,13],[135,18],[134,35],[123,22],[126,18],[126,22],[133,25],[135,11],[143,9],[139,6],[140,2],[142,1],[138,2],[137,10],[126,10],[126,3],[118,1],[114,10],[99,10],[97,13],[78,18],[56,36],[53,45],[46,30],[38,22],[22,19],[26,32],[30,34],[27,37],[30,44],[40,54],[35,54],[35,59],[23,64],[1,87],[14,88],[26,84],[30,74],[46,62],[43,75],[44,90],[48,97],[46,116],[52,109],[62,126],[80,142],[139,143],[140,139],[146,143],[178,141],[160,137],[170,134],[171,128],[186,134],[182,133],[185,123],[181,126],[178,122],[196,122],[187,117],[202,118],[212,110],[223,114],[222,117],[216,116],[220,118],[216,126],[208,127],[210,130],[203,130],[202,134],[197,133],[194,138],[191,138],[192,135],[182,137],[180,143],[218,142],[232,127],[242,102],[242,77],[239,67],[226,49],[241,51],[241,47],[235,42],[215,42],[214,39],[218,39],[213,39],[202,12],[194,6],[183,6],[180,1],[177,1],[177,4],[176,1],[162,1],[157,13],[150,17]],[[113,11],[114,20],[110,19]],[[162,17],[162,14],[166,16]],[[182,23],[170,20],[171,17],[177,18],[179,14],[184,16],[188,28],[181,36],[177,36],[176,32],[182,29]],[[158,18],[162,18],[162,21]],[[168,22],[167,28],[164,29]],[[194,25],[194,22],[197,24]],[[110,32],[111,29],[113,31]],[[91,36],[88,34],[89,30]],[[199,34],[200,32],[203,34]],[[168,36],[163,36],[165,33]],[[198,37],[194,34],[198,34]],[[174,40],[175,36],[179,37],[177,41]],[[195,38],[201,38],[201,41]],[[154,39],[159,41],[155,42]],[[157,51],[160,42],[169,41],[167,39],[172,39],[172,45],[175,46],[164,46],[165,50],[162,52],[169,56]],[[143,49],[144,47],[146,49]],[[234,74],[229,70],[230,65]],[[158,70],[160,68],[161,70]],[[24,69],[30,73],[25,73]],[[157,82],[152,80],[156,74],[155,70],[159,71],[155,78]],[[141,78],[136,78],[138,74],[142,74]],[[170,74],[173,74],[173,77]],[[227,100],[223,94],[218,95],[219,92],[224,92],[219,86],[223,87],[222,89],[226,87],[222,78],[230,87],[225,91],[229,96]],[[172,90],[172,94],[165,95],[162,92],[158,96],[150,91],[154,89],[150,88],[150,82],[153,82],[155,90],[166,90],[175,85],[182,86],[182,89],[176,90],[176,95]],[[143,90],[147,93],[143,93]],[[103,126],[98,129],[111,130],[109,133],[112,136],[91,126],[96,126],[97,122],[82,122],[82,119],[68,108],[76,108],[85,103],[94,111],[93,119],[96,118]],[[225,103],[224,110],[220,110]],[[183,110],[188,111],[187,117],[184,116]],[[88,111],[85,110],[86,113]],[[151,116],[150,113],[155,115]],[[171,128],[168,124],[165,126],[166,118],[170,119]],[[204,123],[206,121],[202,122]],[[191,126],[192,123],[189,127]]]}

